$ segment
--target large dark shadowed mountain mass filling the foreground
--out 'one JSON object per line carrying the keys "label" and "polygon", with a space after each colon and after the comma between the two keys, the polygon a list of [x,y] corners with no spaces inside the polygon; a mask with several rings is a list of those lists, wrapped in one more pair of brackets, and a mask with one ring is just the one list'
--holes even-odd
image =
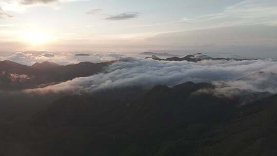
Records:
{"label": "large dark shadowed mountain mass filling the foreground", "polygon": [[172,88],[159,85],[132,94],[128,100],[123,96],[109,98],[118,90],[102,96],[64,96],[28,121],[3,123],[0,153],[277,154],[277,95],[240,106],[238,99],[195,93],[209,88],[213,86],[192,82]]}

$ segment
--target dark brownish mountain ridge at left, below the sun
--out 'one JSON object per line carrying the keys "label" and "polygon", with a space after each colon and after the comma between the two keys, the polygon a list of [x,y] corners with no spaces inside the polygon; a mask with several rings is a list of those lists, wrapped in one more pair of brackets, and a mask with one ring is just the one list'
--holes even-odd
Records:
{"label": "dark brownish mountain ridge at left, below the sun", "polygon": [[76,77],[85,77],[104,70],[111,62],[81,62],[60,66],[51,62],[35,63],[32,66],[11,61],[0,62],[0,90],[37,88],[39,85],[65,82]]}

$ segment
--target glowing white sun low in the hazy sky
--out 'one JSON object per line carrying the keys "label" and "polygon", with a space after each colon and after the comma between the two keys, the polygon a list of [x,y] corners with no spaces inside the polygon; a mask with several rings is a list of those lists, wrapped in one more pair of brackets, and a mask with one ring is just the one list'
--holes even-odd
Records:
{"label": "glowing white sun low in the hazy sky", "polygon": [[48,42],[50,37],[43,31],[28,31],[24,33],[24,40],[32,44],[42,44]]}

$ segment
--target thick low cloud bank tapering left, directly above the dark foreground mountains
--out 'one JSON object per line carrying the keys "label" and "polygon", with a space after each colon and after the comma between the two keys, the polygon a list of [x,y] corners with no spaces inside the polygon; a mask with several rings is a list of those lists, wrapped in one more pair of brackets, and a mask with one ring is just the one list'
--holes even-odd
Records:
{"label": "thick low cloud bank tapering left, directly above the dark foreground mountains", "polygon": [[[26,90],[26,92],[82,94],[129,86],[143,86],[145,88],[151,88],[155,85],[175,86],[192,81],[194,83],[213,83],[217,86],[217,90],[213,90],[213,93],[218,91],[219,93],[235,94],[237,90],[277,93],[277,89],[275,89],[277,88],[276,80],[267,81],[265,75],[261,75],[261,79],[254,79],[254,81],[240,80],[242,83],[239,83],[241,77],[259,71],[277,73],[277,62],[253,60],[192,63],[127,58],[113,63],[104,73],[76,78],[72,81],[45,88]],[[262,85],[266,82],[268,82],[268,85]],[[220,86],[220,83],[229,88]]]}

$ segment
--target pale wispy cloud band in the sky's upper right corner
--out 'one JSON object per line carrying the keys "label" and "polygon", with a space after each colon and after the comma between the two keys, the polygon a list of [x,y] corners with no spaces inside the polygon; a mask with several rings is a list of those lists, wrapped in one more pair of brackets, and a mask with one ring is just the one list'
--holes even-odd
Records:
{"label": "pale wispy cloud band in the sky's upper right corner", "polygon": [[271,0],[246,0],[226,7],[223,12],[178,21],[185,29],[208,29],[243,25],[276,26],[277,3]]}

